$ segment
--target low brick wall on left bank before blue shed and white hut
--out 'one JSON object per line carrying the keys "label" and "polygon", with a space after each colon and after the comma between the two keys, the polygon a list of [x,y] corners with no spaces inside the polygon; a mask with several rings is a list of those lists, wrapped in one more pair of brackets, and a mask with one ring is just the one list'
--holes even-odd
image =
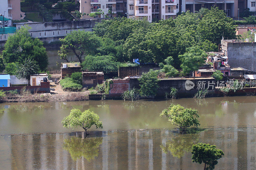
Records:
{"label": "low brick wall on left bank before blue shed and white hut", "polygon": [[18,92],[24,87],[26,90],[30,90],[30,92],[50,92],[50,82],[40,82],[41,85],[34,85],[34,86],[12,86],[12,87],[0,87],[0,90],[3,91],[10,91],[17,89]]}

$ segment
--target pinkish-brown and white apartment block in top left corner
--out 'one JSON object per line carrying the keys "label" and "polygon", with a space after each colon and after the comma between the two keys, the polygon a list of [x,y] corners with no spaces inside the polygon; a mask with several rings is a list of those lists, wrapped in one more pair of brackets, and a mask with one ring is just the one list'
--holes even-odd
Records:
{"label": "pinkish-brown and white apartment block in top left corner", "polygon": [[20,0],[1,0],[0,14],[9,19],[20,19]]}

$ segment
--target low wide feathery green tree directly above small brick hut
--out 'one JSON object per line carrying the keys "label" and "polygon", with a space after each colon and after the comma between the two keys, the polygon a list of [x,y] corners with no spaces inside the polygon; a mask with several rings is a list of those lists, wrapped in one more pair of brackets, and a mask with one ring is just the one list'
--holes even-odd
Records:
{"label": "low wide feathery green tree directly above small brick hut", "polygon": [[83,70],[117,72],[119,63],[111,55],[87,55],[82,63]]}

